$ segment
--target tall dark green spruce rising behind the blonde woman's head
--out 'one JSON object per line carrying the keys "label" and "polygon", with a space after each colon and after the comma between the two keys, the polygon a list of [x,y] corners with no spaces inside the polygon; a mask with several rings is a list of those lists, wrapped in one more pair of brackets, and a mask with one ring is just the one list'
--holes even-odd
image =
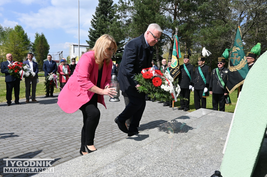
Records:
{"label": "tall dark green spruce rising behind the blonde woman's head", "polygon": [[89,28],[89,40],[86,40],[89,48],[93,48],[96,40],[109,33],[110,22],[114,18],[113,1],[112,0],[99,0],[98,6],[96,7],[95,15],[91,20],[92,28]]}

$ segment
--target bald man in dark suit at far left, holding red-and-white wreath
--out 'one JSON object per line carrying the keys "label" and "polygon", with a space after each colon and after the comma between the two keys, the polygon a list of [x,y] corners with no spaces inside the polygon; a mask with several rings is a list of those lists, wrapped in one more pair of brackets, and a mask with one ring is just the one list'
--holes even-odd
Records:
{"label": "bald man in dark suit at far left, holding red-and-white wreath", "polygon": [[7,105],[11,105],[12,100],[12,91],[14,88],[14,96],[15,96],[15,104],[21,104],[19,103],[19,86],[20,86],[20,78],[16,78],[13,75],[10,75],[8,72],[8,65],[15,62],[13,61],[12,54],[8,53],[6,54],[7,61],[4,61],[1,63],[1,73],[5,74],[5,82],[6,82],[6,100]]}

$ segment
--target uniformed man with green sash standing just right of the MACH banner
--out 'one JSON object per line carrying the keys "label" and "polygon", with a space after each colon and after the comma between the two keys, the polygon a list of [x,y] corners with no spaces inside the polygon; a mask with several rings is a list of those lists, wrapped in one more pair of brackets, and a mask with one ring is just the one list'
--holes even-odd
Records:
{"label": "uniformed man with green sash standing just right of the MACH banner", "polygon": [[180,99],[178,110],[188,111],[190,104],[190,90],[193,87],[195,67],[191,65],[189,55],[184,55],[184,64],[180,65],[181,73],[178,75],[178,84],[180,86],[180,96],[188,99]]}

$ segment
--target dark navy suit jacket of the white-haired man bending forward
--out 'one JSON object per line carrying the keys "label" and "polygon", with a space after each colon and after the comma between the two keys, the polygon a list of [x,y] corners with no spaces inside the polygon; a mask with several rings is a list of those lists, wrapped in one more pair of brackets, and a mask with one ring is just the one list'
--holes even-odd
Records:
{"label": "dark navy suit jacket of the white-haired man bending forward", "polygon": [[144,93],[139,93],[136,89],[136,82],[133,78],[135,74],[141,73],[142,69],[149,68],[152,64],[153,47],[147,46],[144,34],[129,41],[124,48],[118,80],[120,90],[128,95],[144,97]]}

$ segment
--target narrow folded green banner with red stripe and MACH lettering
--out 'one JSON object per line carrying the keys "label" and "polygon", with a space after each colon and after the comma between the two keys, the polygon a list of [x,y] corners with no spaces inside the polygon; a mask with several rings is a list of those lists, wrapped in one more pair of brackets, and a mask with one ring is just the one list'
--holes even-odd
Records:
{"label": "narrow folded green banner with red stripe and MACH lettering", "polygon": [[168,60],[168,62],[171,62],[170,75],[172,78],[175,79],[178,76],[178,74],[180,74],[181,72],[178,59],[182,58],[182,56],[180,52],[180,46],[179,46],[177,34],[175,34],[173,38],[174,38],[174,44],[173,44],[173,50],[172,50],[172,57],[171,57],[171,60]]}

